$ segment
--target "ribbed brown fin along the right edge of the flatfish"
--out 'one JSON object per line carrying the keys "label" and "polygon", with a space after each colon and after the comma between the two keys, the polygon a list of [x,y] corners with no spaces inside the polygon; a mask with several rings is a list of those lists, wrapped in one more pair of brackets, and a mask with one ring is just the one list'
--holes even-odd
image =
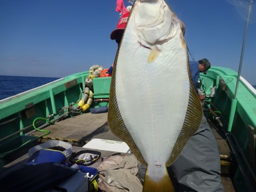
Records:
{"label": "ribbed brown fin along the right edge of the flatfish", "polygon": [[187,141],[198,130],[203,117],[203,108],[192,83],[193,81],[189,64],[187,66],[187,69],[190,78],[190,97],[188,100],[186,116],[182,130],[179,134],[179,137],[177,138],[176,143],[174,144],[174,148],[168,162],[166,163],[166,166],[170,166],[176,161],[176,159],[179,157],[182,150],[184,149]]}

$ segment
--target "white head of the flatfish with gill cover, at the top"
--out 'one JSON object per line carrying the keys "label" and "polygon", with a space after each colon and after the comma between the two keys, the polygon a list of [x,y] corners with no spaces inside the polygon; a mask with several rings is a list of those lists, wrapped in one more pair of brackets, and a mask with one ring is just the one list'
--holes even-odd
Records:
{"label": "white head of the flatfish with gill cover, at the top", "polygon": [[164,0],[138,0],[135,4],[133,29],[144,46],[159,46],[183,34],[182,22]]}

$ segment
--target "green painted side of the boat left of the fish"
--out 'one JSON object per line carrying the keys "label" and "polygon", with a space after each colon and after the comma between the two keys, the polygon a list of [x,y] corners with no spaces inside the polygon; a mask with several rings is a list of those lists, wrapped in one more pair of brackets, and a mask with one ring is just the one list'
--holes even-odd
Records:
{"label": "green painted side of the boat left of the fish", "polygon": [[[0,123],[15,119],[19,114],[21,114],[22,118],[15,119],[1,126],[0,138],[4,138],[23,127],[30,126],[32,121],[37,117],[48,117],[62,107],[70,103],[75,103],[77,99],[79,99],[80,87],[82,87],[84,76],[88,76],[88,72],[72,74],[19,95],[1,100]],[[76,80],[77,84],[67,88],[65,83],[72,80]],[[25,106],[29,103],[34,104],[36,115],[27,119],[24,116],[24,112],[26,110]],[[32,128],[27,131],[30,130],[32,130]],[[27,131],[23,133],[25,134]],[[10,139],[18,135],[19,134],[14,135]]]}

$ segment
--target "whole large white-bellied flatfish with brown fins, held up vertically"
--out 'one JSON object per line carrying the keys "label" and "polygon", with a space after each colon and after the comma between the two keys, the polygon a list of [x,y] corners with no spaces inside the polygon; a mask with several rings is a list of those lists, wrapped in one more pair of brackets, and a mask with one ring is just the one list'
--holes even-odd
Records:
{"label": "whole large white-bellied flatfish with brown fins, held up vertically", "polygon": [[143,191],[174,191],[172,165],[201,125],[182,24],[164,0],[137,0],[117,50],[108,125],[147,165]]}

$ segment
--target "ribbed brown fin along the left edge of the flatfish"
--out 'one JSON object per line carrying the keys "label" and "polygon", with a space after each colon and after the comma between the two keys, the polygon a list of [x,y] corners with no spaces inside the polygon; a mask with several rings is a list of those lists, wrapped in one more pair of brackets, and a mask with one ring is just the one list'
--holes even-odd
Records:
{"label": "ribbed brown fin along the left edge of the flatfish", "polygon": [[126,142],[126,144],[129,146],[132,153],[135,154],[137,159],[141,163],[146,165],[147,163],[144,161],[137,145],[135,144],[129,131],[127,130],[125,123],[121,117],[120,111],[118,109],[117,100],[116,100],[116,64],[117,62],[115,62],[114,64],[112,81],[110,85],[109,109],[108,109],[108,117],[107,117],[108,126],[114,135],[116,135],[118,138]]}

